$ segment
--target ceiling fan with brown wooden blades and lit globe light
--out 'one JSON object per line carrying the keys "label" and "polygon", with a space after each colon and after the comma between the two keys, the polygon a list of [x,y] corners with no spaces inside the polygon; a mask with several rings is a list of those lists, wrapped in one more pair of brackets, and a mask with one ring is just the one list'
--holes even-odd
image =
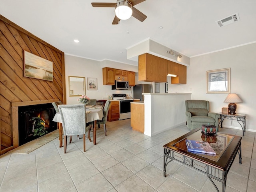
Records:
{"label": "ceiling fan with brown wooden blades and lit globe light", "polygon": [[116,3],[92,3],[93,7],[115,7],[115,18],[112,22],[113,25],[119,23],[120,20],[126,20],[133,16],[134,18],[143,22],[147,16],[134,8],[135,5],[146,0],[117,0]]}

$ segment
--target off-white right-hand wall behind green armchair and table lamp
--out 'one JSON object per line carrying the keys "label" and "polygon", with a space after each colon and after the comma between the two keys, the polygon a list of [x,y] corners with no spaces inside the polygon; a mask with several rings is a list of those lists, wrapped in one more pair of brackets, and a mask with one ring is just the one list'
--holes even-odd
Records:
{"label": "off-white right-hand wall behind green armchair and table lamp", "polygon": [[[246,115],[246,130],[256,132],[256,43],[223,50],[190,59],[187,66],[187,84],[171,84],[168,78],[169,93],[192,93],[191,99],[210,101],[211,112],[221,112],[228,94],[206,94],[206,71],[231,68],[231,93],[236,93],[243,100],[237,104],[236,113]],[[236,121],[224,120],[224,126],[241,129]]]}

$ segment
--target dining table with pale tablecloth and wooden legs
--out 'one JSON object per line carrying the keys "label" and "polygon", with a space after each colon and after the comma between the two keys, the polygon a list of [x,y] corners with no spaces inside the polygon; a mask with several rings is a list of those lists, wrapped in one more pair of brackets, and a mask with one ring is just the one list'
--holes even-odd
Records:
{"label": "dining table with pale tablecloth and wooden legs", "polygon": [[[103,114],[103,108],[102,106],[86,106],[86,123],[94,122],[94,129],[93,129],[93,144],[96,145],[96,124],[97,120],[102,120],[104,114]],[[62,119],[60,112],[57,112],[54,115],[53,120],[54,122],[58,123],[59,128],[59,134],[60,134],[60,146],[62,147],[62,134],[63,134],[63,128],[62,128]]]}

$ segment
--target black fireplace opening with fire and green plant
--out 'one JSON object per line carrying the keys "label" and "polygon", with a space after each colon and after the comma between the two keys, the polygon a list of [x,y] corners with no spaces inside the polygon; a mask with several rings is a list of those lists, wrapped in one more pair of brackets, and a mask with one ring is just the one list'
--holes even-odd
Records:
{"label": "black fireplace opening with fire and green plant", "polygon": [[56,112],[51,103],[20,106],[18,114],[19,146],[57,129],[57,123],[52,121]]}

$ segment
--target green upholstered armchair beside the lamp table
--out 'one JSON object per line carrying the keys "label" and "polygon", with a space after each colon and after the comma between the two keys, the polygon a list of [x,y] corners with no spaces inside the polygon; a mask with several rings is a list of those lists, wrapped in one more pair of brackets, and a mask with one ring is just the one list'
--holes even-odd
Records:
{"label": "green upholstered armchair beside the lamp table", "polygon": [[220,114],[209,112],[209,101],[186,100],[186,121],[189,129],[201,128],[203,124],[215,125],[218,131]]}

